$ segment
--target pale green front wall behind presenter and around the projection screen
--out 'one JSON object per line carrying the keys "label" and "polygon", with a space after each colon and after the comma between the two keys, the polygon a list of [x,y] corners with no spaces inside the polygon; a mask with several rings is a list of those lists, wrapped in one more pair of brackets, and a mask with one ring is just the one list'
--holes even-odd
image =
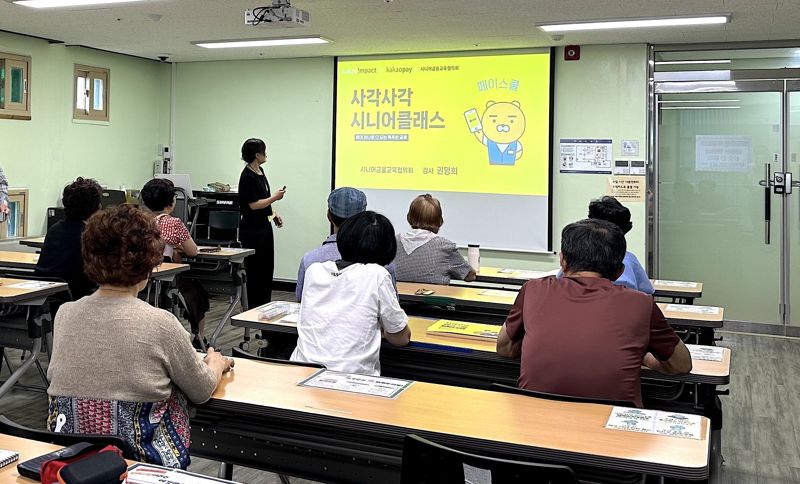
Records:
{"label": "pale green front wall behind presenter and around the projection screen", "polygon": [[[555,52],[554,158],[559,138],[640,141],[645,158],[647,49],[641,45],[584,46],[581,60]],[[286,185],[276,204],[286,227],[276,231],[277,278],[295,279],[302,254],[328,233],[331,182],[333,69],[330,58],[180,63],[176,79],[176,172],[192,183],[235,184],[244,139],[268,144],[266,172],[273,187]],[[605,175],[559,174],[554,168],[553,244],[561,228],[586,216],[589,200],[605,194]],[[629,249],[645,260],[644,203],[627,204],[634,228]],[[444,207],[445,214],[455,207]],[[524,223],[524,221],[520,221]],[[557,256],[482,251],[486,266],[551,269]]]}

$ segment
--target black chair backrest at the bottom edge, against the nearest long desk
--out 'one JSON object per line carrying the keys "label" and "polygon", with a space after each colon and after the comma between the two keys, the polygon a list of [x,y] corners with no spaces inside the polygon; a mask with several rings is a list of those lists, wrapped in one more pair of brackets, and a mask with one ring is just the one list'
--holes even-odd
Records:
{"label": "black chair backrest at the bottom edge, against the nearest long desk", "polygon": [[567,466],[468,454],[406,435],[400,484],[577,484]]}

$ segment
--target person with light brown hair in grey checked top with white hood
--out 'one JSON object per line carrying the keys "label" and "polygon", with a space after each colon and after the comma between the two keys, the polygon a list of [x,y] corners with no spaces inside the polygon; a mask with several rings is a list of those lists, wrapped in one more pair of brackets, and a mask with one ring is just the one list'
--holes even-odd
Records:
{"label": "person with light brown hair in grey checked top with white hood", "polygon": [[475,270],[456,249],[456,244],[439,236],[444,224],[439,200],[429,194],[411,202],[406,220],[411,228],[397,235],[394,259],[398,281],[450,284],[450,278],[475,280]]}

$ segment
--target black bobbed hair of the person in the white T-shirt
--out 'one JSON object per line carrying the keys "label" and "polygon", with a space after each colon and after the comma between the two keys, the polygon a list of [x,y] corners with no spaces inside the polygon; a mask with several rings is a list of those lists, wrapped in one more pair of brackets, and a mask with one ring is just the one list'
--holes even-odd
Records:
{"label": "black bobbed hair of the person in the white T-shirt", "polygon": [[385,266],[394,260],[397,240],[388,218],[367,210],[347,218],[339,227],[336,247],[342,260]]}

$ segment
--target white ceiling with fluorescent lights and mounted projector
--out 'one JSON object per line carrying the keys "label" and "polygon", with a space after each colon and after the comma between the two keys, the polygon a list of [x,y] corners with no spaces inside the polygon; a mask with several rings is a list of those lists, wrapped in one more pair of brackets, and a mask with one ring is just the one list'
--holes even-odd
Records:
{"label": "white ceiling with fluorescent lights and mounted projector", "polygon": [[[0,29],[170,61],[509,49],[566,44],[694,43],[800,38],[800,0],[294,0],[309,27],[244,25],[271,0],[146,0],[109,8],[46,9],[0,0]],[[537,23],[731,13],[730,24],[570,33]],[[155,21],[153,18],[160,19]],[[328,45],[203,49],[198,40],[321,35]]]}

